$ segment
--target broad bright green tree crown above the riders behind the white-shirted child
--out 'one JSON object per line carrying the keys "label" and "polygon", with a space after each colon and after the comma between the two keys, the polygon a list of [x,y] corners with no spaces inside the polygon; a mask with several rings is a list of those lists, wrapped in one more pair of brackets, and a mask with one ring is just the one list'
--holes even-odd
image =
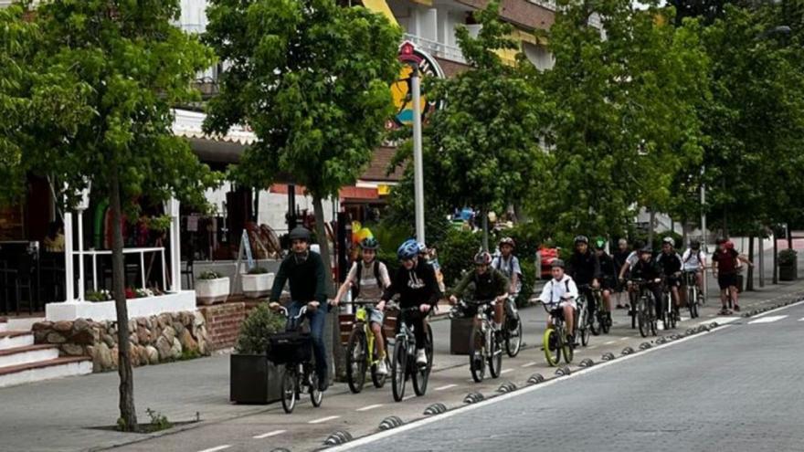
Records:
{"label": "broad bright green tree crown above the riders behind the white-shirted child", "polygon": [[[589,25],[594,13],[605,32]],[[705,91],[695,80],[707,61],[697,35],[667,15],[655,2],[562,2],[549,34],[555,67],[539,79],[557,109],[551,186],[538,203],[554,232],[621,233],[635,208],[666,208],[675,174],[700,161],[693,113]]]}

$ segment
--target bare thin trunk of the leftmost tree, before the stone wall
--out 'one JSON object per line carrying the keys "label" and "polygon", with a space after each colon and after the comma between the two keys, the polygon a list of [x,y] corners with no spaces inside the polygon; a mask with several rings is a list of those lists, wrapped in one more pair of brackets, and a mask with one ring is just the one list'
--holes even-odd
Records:
{"label": "bare thin trunk of the leftmost tree, before the stone wall", "polygon": [[137,411],[134,408],[134,375],[129,346],[129,312],[125,298],[125,271],[122,254],[122,205],[117,165],[111,163],[111,280],[114,290],[114,307],[117,310],[118,366],[120,374],[120,418],[124,431],[136,431]]}

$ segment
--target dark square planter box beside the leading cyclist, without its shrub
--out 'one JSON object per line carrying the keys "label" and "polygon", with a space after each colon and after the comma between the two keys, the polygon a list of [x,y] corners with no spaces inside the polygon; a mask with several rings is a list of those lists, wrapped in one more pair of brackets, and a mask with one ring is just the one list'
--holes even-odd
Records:
{"label": "dark square planter box beside the leading cyclist, without its shrub", "polygon": [[229,400],[237,404],[270,404],[282,399],[285,366],[264,354],[235,354],[229,359]]}

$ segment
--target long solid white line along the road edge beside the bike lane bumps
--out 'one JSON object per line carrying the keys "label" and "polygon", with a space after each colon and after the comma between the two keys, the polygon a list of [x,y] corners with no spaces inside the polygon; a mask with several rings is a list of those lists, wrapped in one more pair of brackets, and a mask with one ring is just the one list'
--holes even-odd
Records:
{"label": "long solid white line along the road edge beside the bike lane bumps", "polygon": [[350,449],[353,449],[354,447],[365,446],[366,444],[371,444],[371,443],[373,443],[373,442],[375,442],[375,441],[377,441],[379,439],[383,439],[383,438],[386,438],[388,436],[398,435],[398,434],[400,434],[402,432],[407,432],[408,430],[418,428],[419,426],[427,426],[429,424],[433,424],[435,422],[442,421],[442,420],[444,420],[444,419],[446,419],[448,417],[452,417],[454,415],[459,415],[459,414],[465,413],[467,411],[476,410],[476,409],[480,408],[481,406],[497,404],[497,403],[503,402],[503,400],[508,400],[509,398],[516,397],[516,396],[521,395],[521,394],[527,394],[527,393],[532,393],[534,391],[539,391],[539,390],[541,390],[541,389],[543,389],[545,387],[561,383],[561,382],[563,382],[565,380],[568,380],[568,379],[577,378],[579,376],[585,375],[585,374],[590,373],[590,372],[597,372],[599,369],[603,369],[603,368],[605,368],[605,367],[607,367],[609,365],[615,365],[615,364],[618,364],[618,363],[623,363],[623,362],[628,361],[630,359],[634,359],[634,358],[637,358],[639,356],[644,356],[647,353],[655,352],[657,350],[661,350],[661,349],[666,348],[666,347],[672,347],[672,346],[675,346],[676,344],[679,344],[679,343],[682,343],[682,342],[692,341],[693,339],[698,339],[698,338],[701,338],[701,337],[703,337],[703,336],[705,336],[707,334],[712,334],[715,331],[725,330],[726,328],[729,328],[729,327],[731,327],[731,325],[724,325],[724,326],[721,326],[721,327],[714,328],[711,331],[705,331],[705,332],[702,332],[700,334],[695,334],[693,336],[687,336],[687,337],[682,338],[682,339],[680,339],[678,341],[667,342],[667,343],[658,345],[656,347],[653,347],[651,349],[648,349],[648,350],[646,350],[644,352],[629,354],[629,355],[626,355],[626,356],[622,356],[622,357],[620,357],[620,358],[618,358],[616,360],[613,360],[613,361],[607,361],[605,363],[599,363],[599,364],[597,364],[597,365],[595,365],[593,367],[587,367],[586,369],[583,369],[583,370],[577,370],[577,371],[575,371],[573,373],[570,373],[569,375],[566,375],[564,377],[551,378],[551,379],[547,380],[545,383],[542,383],[542,384],[534,384],[533,386],[527,386],[524,389],[520,389],[520,390],[515,391],[513,393],[498,395],[496,397],[486,399],[486,400],[484,400],[482,402],[478,402],[477,404],[464,405],[464,406],[461,406],[460,408],[454,409],[452,411],[448,411],[447,413],[444,413],[442,415],[434,415],[434,416],[430,416],[430,417],[425,417],[425,418],[422,418],[422,419],[420,419],[418,421],[413,421],[410,424],[407,424],[405,426],[398,426],[397,428],[393,428],[391,430],[386,430],[384,432],[380,432],[380,433],[377,433],[376,435],[372,435],[372,436],[364,436],[362,438],[355,439],[354,441],[352,441],[350,443],[344,444],[343,446],[332,447],[332,448],[329,448],[327,450],[329,452],[339,452],[341,450],[350,450]]}

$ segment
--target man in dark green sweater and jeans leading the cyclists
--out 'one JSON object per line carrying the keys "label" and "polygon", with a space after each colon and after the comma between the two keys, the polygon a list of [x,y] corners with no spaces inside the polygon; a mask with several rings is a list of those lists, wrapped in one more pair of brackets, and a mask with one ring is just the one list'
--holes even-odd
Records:
{"label": "man in dark green sweater and jeans leading the cyclists", "polygon": [[303,226],[294,228],[288,235],[291,241],[291,253],[282,260],[273,288],[270,291],[272,310],[280,306],[279,300],[285,282],[291,289],[291,305],[289,314],[296,316],[307,305],[307,317],[310,319],[310,335],[312,336],[312,352],[315,355],[315,373],[318,375],[318,389],[326,391],[327,379],[326,346],[323,342],[323,327],[326,311],[318,309],[326,304],[324,278],[326,270],[318,253],[310,251],[310,231]]}

